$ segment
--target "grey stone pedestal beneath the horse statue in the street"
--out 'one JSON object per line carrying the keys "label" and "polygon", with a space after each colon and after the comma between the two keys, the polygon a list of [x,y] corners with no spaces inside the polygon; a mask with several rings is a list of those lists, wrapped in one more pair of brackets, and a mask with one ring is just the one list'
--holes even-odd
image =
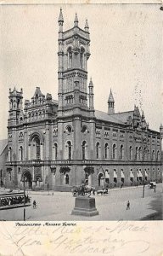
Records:
{"label": "grey stone pedestal beneath the horse statue in the street", "polygon": [[95,198],[86,196],[76,197],[75,207],[74,210],[72,210],[71,214],[89,217],[98,215],[98,211],[95,206]]}

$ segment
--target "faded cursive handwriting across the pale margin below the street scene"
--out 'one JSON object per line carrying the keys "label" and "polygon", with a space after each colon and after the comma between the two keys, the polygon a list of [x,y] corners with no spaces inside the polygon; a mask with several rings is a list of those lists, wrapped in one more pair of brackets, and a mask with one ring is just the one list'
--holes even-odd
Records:
{"label": "faded cursive handwriting across the pale margin below the street scene", "polygon": [[[32,224],[32,223],[31,223]],[[4,224],[3,224],[4,225]],[[45,229],[46,227],[46,229]],[[54,252],[62,249],[65,253],[89,253],[115,255],[121,252],[130,254],[131,247],[137,253],[149,250],[149,241],[145,239],[125,239],[121,232],[147,232],[146,225],[135,225],[127,222],[115,222],[115,224],[90,225],[69,223],[44,223],[40,225],[21,226],[16,224],[13,232],[6,226],[1,230],[1,241],[7,241],[8,247],[14,247],[14,255],[25,256],[28,248],[51,247]],[[127,236],[132,237],[132,236]],[[3,255],[0,249],[0,256]],[[5,253],[6,256],[9,256]]]}

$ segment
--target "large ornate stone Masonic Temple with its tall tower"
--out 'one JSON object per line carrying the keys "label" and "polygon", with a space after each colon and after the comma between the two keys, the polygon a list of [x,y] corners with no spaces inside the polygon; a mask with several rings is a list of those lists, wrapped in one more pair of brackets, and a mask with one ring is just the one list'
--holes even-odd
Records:
{"label": "large ornate stone Masonic Temple with its tall tower", "polygon": [[[58,101],[39,87],[31,101],[23,90],[9,91],[6,185],[70,190],[82,179],[96,188],[161,181],[161,137],[149,129],[138,107],[115,113],[110,90],[108,110],[94,109],[93,81],[87,84],[89,26],[63,31],[59,14]],[[106,102],[107,105],[107,102]]]}

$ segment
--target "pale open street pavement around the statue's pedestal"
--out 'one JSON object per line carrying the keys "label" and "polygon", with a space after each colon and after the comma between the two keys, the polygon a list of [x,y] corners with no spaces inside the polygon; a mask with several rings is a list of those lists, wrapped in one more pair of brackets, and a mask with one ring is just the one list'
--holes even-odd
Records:
{"label": "pale open street pavement around the statue's pedestal", "polygon": [[[156,193],[145,186],[144,198],[143,186],[110,189],[108,195],[95,195],[99,215],[94,217],[71,215],[75,197],[70,192],[29,191],[29,195],[31,201],[37,201],[37,209],[32,206],[25,208],[25,218],[31,221],[140,220],[155,213],[159,213],[158,219],[162,218],[162,184],[157,184]],[[126,211],[128,200],[130,210]],[[23,220],[23,208],[0,211],[0,220]]]}

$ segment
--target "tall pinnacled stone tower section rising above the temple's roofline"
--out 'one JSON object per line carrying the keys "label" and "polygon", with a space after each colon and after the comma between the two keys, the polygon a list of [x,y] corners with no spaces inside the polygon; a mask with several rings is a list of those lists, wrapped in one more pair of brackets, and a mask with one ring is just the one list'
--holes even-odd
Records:
{"label": "tall pinnacled stone tower section rising above the temple's roofline", "polygon": [[70,109],[87,110],[87,60],[89,58],[89,27],[74,26],[63,32],[62,9],[59,14],[59,115]]}

